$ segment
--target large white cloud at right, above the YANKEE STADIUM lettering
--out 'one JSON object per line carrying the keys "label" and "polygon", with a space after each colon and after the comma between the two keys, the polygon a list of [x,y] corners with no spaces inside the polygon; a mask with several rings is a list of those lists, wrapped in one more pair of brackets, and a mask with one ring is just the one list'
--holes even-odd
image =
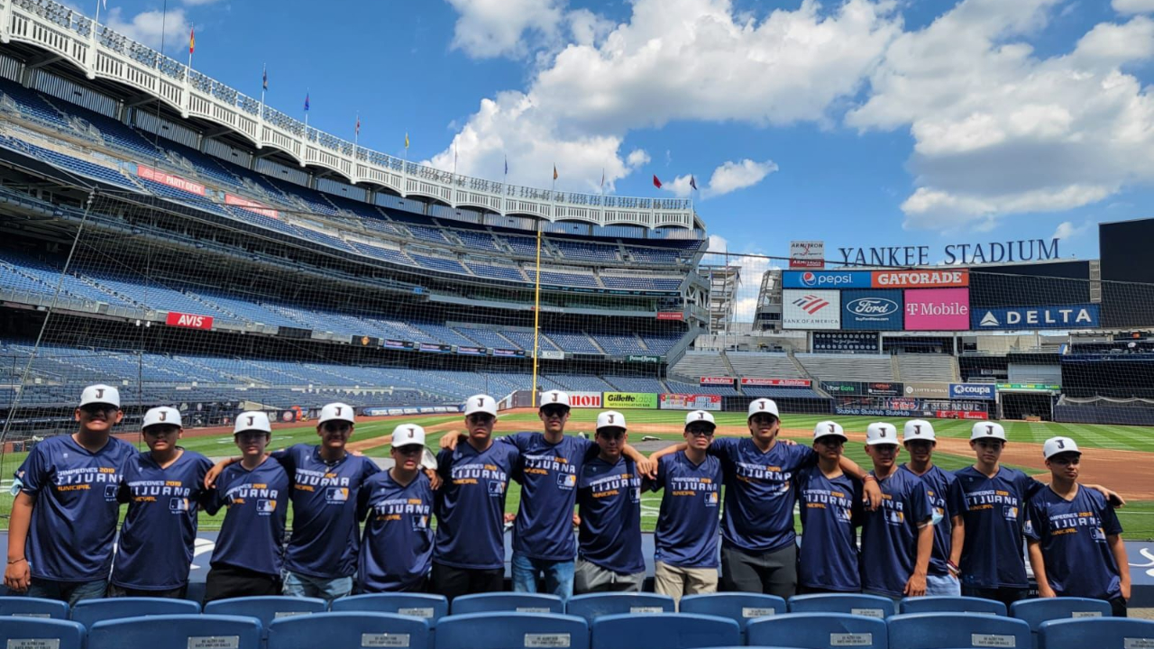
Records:
{"label": "large white cloud at right, above the YANKEE STADIUM lettering", "polygon": [[1025,39],[1057,2],[964,0],[896,39],[871,73],[846,121],[908,126],[907,227],[988,230],[1154,180],[1154,98],[1121,69],[1154,57],[1154,22],[1099,24],[1069,54],[1039,58]]}

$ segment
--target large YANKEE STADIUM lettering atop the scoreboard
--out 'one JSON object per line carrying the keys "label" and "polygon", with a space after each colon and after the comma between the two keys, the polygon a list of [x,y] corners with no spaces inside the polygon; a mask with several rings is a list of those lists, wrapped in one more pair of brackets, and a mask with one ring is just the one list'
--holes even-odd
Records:
{"label": "large YANKEE STADIUM lettering atop the scoreboard", "polygon": [[[838,248],[841,263],[855,266],[929,266],[929,246],[882,246],[876,248]],[[1024,239],[1020,241],[990,241],[987,244],[950,244],[943,247],[941,263],[1002,263],[1011,261],[1044,261],[1058,259],[1058,239]]]}

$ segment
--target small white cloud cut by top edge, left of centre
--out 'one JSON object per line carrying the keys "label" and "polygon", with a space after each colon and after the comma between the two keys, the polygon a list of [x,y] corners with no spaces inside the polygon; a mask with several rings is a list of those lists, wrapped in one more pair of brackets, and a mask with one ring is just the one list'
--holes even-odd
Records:
{"label": "small white cloud cut by top edge, left of centre", "polygon": [[[534,42],[556,37],[561,0],[449,0],[459,14],[452,46],[477,59],[522,57]],[[586,12],[587,13],[587,12]],[[595,22],[578,16],[583,36],[595,33]]]}

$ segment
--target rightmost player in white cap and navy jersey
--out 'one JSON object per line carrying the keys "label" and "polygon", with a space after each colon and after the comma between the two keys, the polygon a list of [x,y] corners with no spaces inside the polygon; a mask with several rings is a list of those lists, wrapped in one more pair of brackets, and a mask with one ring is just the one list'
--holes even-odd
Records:
{"label": "rightmost player in white cap and navy jersey", "polygon": [[1115,617],[1126,617],[1130,565],[1118,516],[1106,497],[1078,484],[1074,440],[1049,439],[1042,453],[1050,486],[1029,499],[1026,523],[1039,595],[1106,599]]}

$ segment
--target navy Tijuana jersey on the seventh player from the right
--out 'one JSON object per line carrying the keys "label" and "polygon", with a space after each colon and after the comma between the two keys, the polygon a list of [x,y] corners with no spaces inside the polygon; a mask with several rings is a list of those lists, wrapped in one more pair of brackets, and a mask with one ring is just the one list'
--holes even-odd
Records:
{"label": "navy Tijuana jersey on the seventh player from the right", "polygon": [[721,524],[721,462],[705,456],[694,464],[685,452],[658,462],[650,486],[661,494],[653,559],[682,568],[718,567],[718,528]]}

